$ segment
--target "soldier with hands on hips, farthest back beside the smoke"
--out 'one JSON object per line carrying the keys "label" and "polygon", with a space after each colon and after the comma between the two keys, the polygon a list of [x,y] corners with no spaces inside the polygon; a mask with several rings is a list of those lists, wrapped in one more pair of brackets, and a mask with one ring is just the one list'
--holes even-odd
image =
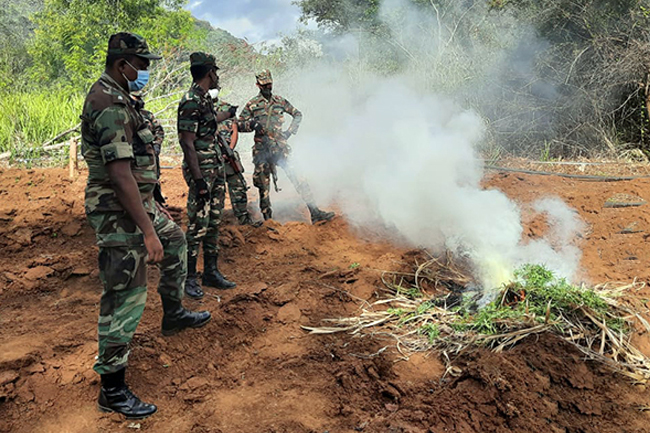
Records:
{"label": "soldier with hands on hips, farthest back beside the smoke", "polygon": [[[255,75],[260,93],[248,101],[239,115],[240,121],[257,120],[263,128],[262,132],[255,133],[253,146],[253,185],[260,194],[260,210],[264,219],[272,218],[271,210],[271,176],[276,178],[276,166],[282,167],[287,177],[296,188],[309,208],[311,222],[329,221],[334,218],[334,212],[323,212],[314,203],[309,186],[298,179],[289,164],[291,148],[287,139],[298,132],[302,120],[302,113],[281,96],[273,95],[273,77],[268,69]],[[286,131],[282,130],[284,113],[289,114],[293,120]],[[276,186],[277,188],[277,186]]]}

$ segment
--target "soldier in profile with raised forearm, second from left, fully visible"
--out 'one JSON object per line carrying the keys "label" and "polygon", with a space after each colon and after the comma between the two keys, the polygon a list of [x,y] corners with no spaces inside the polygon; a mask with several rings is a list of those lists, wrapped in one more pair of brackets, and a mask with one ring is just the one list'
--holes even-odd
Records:
{"label": "soldier in profile with raised forearm, second from left, fully visible", "polygon": [[196,263],[203,243],[203,284],[219,289],[236,286],[219,271],[219,224],[226,194],[225,168],[217,141],[217,123],[235,115],[215,110],[208,91],[219,87],[213,55],[196,52],[190,55],[193,83],[178,105],[178,133],[183,149],[183,177],[189,186],[187,195],[187,263],[185,293],[195,299],[203,297],[197,281]]}

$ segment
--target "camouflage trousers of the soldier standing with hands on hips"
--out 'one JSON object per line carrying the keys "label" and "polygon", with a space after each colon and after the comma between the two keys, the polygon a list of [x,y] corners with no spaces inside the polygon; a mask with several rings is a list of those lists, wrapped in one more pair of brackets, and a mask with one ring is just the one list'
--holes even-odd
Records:
{"label": "camouflage trousers of the soldier standing with hands on hips", "polygon": [[260,210],[264,219],[271,218],[271,176],[274,169],[281,167],[293,184],[303,201],[308,205],[314,204],[314,198],[311,194],[309,185],[296,176],[295,171],[289,163],[289,150],[287,147],[278,147],[272,151],[261,149],[256,144],[253,147],[253,163],[255,171],[253,172],[253,185],[255,185],[260,194]]}

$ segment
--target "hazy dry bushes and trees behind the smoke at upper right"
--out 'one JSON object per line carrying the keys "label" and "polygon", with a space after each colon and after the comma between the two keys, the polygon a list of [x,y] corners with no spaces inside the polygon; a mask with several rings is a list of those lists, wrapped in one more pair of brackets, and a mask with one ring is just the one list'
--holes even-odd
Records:
{"label": "hazy dry bushes and trees behind the smoke at upper right", "polygon": [[299,0],[303,20],[363,35],[369,61],[417,65],[525,156],[650,151],[650,1]]}

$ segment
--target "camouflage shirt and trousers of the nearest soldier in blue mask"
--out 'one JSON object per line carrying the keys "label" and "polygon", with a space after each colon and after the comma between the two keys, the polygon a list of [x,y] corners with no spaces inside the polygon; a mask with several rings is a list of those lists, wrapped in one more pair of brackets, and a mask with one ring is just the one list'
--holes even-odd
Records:
{"label": "camouflage shirt and trousers of the nearest soldier in blue mask", "polygon": [[144,310],[147,250],[141,230],[120,204],[106,164],[121,159],[131,161],[142,205],[164,249],[164,259],[158,264],[158,292],[178,302],[187,273],[187,247],[181,229],[165,218],[154,202],[153,191],[158,183],[154,136],[128,92],[108,74],[102,74],[86,97],[81,119],[82,153],[88,164],[86,215],[97,236],[104,286],[99,356],[94,369],[108,374],[126,366],[128,345]]}

